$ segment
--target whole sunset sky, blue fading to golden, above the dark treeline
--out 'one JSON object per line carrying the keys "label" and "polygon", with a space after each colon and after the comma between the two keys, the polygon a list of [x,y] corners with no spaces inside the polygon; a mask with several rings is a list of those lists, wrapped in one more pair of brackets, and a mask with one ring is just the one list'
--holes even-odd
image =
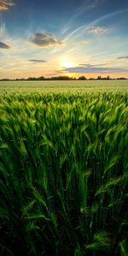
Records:
{"label": "whole sunset sky, blue fading to golden, above the dark treeline", "polygon": [[0,0],[0,79],[128,78],[128,0]]}

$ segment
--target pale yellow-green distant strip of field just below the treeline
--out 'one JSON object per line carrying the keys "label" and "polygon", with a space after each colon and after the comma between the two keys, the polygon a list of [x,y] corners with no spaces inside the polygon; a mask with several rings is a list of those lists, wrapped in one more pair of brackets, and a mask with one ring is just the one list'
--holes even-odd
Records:
{"label": "pale yellow-green distant strip of field just below the treeline", "polygon": [[86,81],[1,81],[0,91],[74,91],[116,90],[128,91],[128,80],[86,80]]}

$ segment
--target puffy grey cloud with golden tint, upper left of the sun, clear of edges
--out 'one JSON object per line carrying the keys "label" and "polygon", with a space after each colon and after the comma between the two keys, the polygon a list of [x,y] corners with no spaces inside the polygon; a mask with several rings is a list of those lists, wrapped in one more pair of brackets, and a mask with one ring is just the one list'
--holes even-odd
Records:
{"label": "puffy grey cloud with golden tint, upper left of the sun, clear of edges", "polygon": [[51,47],[63,44],[63,42],[60,39],[55,38],[54,35],[49,33],[35,33],[32,36],[30,42],[40,47]]}

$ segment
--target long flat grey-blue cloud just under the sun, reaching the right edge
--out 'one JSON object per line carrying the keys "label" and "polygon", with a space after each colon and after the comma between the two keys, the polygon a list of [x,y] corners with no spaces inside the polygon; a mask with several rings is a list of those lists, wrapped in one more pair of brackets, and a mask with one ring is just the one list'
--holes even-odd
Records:
{"label": "long flat grey-blue cloud just under the sun, reaching the right edge", "polygon": [[117,67],[68,67],[61,70],[64,73],[124,73],[128,69]]}

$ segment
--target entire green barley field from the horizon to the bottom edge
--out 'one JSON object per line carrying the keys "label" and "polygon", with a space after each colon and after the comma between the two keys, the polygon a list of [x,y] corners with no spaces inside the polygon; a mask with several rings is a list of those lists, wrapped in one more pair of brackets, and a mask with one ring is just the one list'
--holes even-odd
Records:
{"label": "entire green barley field from the horizon to the bottom edge", "polygon": [[127,88],[0,82],[1,256],[128,255]]}

